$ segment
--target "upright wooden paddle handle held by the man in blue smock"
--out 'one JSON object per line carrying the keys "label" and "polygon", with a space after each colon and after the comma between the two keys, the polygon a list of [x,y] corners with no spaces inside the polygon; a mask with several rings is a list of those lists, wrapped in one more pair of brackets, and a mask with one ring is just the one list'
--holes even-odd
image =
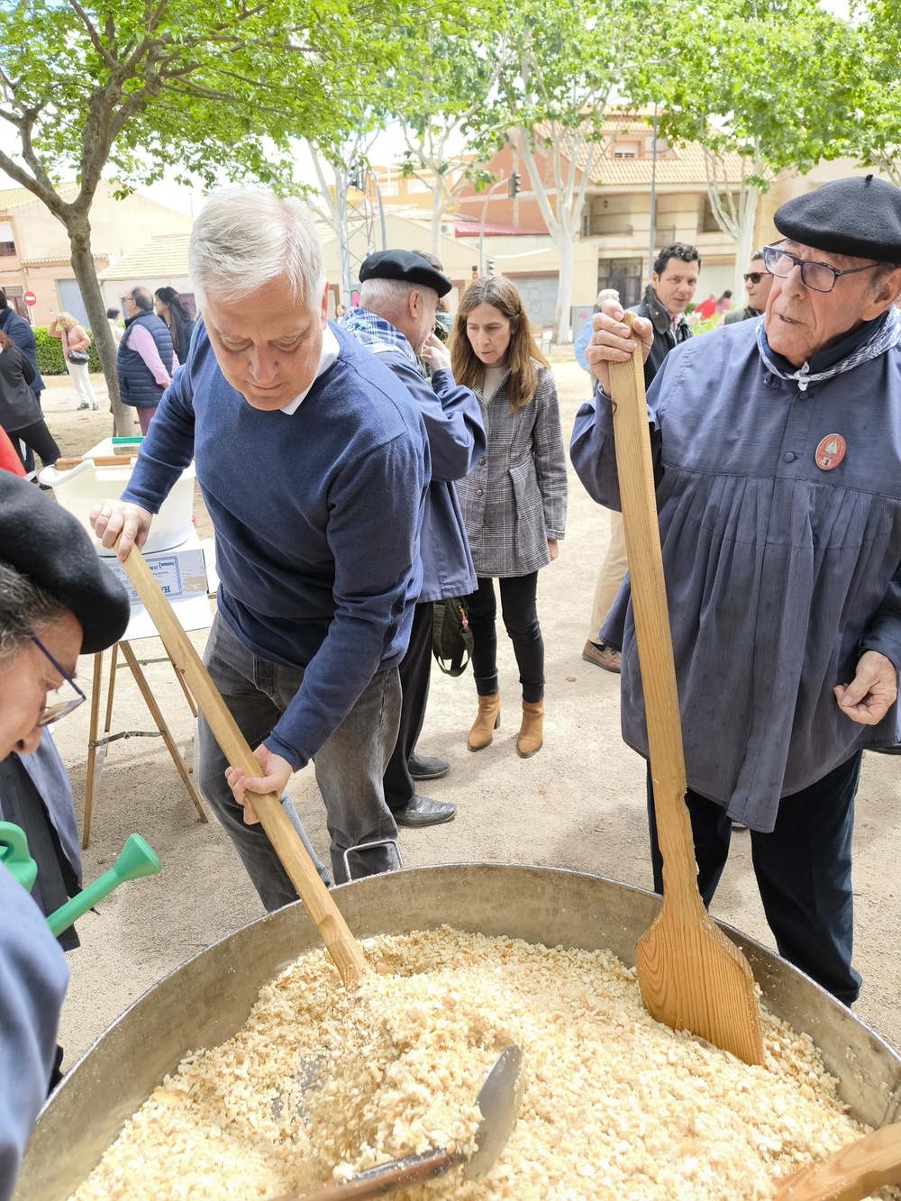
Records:
{"label": "upright wooden paddle handle held by the man in blue smock", "polygon": [[[629,328],[633,316],[627,312],[622,317]],[[679,889],[698,897],[691,823],[684,803],[686,782],[679,693],[663,579],[640,345],[628,363],[610,363],[609,368],[616,471],[626,530],[632,613],[642,668],[663,878],[667,891]]]}

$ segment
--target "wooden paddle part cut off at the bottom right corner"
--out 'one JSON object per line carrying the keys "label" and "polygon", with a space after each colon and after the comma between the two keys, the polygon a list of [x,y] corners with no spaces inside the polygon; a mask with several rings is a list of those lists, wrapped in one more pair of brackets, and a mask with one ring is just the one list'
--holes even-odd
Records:
{"label": "wooden paddle part cut off at the bottom right corner", "polygon": [[776,1182],[776,1201],[863,1201],[901,1184],[901,1123],[882,1127]]}

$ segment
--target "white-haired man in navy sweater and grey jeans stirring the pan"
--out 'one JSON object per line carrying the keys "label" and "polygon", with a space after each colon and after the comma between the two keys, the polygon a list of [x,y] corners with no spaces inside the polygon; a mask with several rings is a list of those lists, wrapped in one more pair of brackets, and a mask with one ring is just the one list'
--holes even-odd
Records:
{"label": "white-haired man in navy sweater and grey jeans stirring the pan", "polygon": [[[229,769],[201,719],[199,783],[275,909],[297,894],[252,794],[284,794],[310,759],[334,878],[398,866],[382,778],[422,591],[429,444],[406,388],[328,324],[322,246],[299,202],[214,195],[189,267],[203,322],[121,501],[94,522],[107,546],[121,534],[124,558],[193,456],[220,576],[205,662],[259,763],[255,778]],[[363,843],[380,846],[352,849]]]}

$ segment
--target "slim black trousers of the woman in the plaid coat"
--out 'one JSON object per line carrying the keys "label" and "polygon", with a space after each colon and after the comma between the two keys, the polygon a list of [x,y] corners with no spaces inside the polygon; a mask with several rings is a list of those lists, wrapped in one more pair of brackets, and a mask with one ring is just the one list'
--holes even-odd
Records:
{"label": "slim black trousers of the woman in the plaid coat", "polygon": [[[538,625],[538,573],[508,575],[499,581],[503,625],[513,643],[519,667],[523,700],[544,699],[544,639]],[[472,670],[476,692],[490,697],[497,692],[497,600],[494,582],[478,580],[478,588],[469,597],[470,629],[472,631]]]}

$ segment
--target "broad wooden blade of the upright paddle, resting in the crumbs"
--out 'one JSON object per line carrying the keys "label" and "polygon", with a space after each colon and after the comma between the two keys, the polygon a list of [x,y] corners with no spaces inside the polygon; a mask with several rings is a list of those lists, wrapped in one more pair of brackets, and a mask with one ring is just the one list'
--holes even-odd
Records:
{"label": "broad wooden blade of the upright paddle, resting in the crumbs", "polygon": [[690,1030],[745,1063],[763,1064],[760,1011],[751,967],[716,926],[663,898],[636,948],[645,1009],[674,1030]]}

